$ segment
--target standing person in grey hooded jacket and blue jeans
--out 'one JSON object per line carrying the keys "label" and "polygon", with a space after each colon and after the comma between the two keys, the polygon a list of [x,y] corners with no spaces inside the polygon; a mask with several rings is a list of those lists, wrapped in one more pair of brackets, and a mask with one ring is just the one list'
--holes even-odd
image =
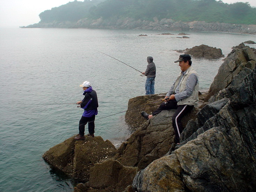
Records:
{"label": "standing person in grey hooded jacket and blue jeans", "polygon": [[148,66],[142,74],[147,76],[145,83],[146,95],[155,94],[155,78],[156,78],[156,65],[153,62],[153,57],[148,56]]}

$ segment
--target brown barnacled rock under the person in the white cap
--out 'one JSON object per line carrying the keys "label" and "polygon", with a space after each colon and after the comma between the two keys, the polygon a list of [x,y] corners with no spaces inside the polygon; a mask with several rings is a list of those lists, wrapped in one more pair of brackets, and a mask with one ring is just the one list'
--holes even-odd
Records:
{"label": "brown barnacled rock under the person in the white cap", "polygon": [[55,145],[43,154],[43,159],[65,174],[82,181],[89,179],[90,168],[98,162],[112,158],[116,148],[100,136],[86,136],[75,141],[74,137]]}

